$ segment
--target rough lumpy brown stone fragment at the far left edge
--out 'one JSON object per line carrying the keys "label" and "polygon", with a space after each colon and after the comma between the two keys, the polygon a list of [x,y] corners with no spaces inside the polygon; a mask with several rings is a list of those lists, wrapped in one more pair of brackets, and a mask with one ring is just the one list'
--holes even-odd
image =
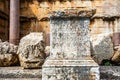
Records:
{"label": "rough lumpy brown stone fragment at the far left edge", "polygon": [[18,47],[8,42],[0,41],[0,66],[11,66],[18,64]]}

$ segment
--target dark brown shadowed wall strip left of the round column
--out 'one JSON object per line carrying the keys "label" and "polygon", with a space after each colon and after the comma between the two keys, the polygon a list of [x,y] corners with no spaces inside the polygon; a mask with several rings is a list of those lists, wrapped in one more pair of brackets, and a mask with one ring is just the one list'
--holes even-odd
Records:
{"label": "dark brown shadowed wall strip left of the round column", "polygon": [[8,0],[0,0],[0,39],[8,40]]}

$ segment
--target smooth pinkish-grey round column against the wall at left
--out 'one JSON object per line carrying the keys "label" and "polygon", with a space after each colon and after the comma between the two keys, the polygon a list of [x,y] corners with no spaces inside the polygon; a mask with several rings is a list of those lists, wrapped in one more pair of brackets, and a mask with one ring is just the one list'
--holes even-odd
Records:
{"label": "smooth pinkish-grey round column against the wall at left", "polygon": [[10,35],[9,42],[19,42],[19,0],[10,0]]}

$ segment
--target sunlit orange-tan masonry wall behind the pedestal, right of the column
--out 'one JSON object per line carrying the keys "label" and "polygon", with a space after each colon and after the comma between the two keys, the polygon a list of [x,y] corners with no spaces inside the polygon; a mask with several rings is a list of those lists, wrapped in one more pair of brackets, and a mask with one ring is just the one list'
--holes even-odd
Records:
{"label": "sunlit orange-tan masonry wall behind the pedestal, right of the column", "polygon": [[[49,35],[48,13],[68,8],[96,9],[91,20],[91,34],[120,31],[119,0],[21,0],[21,37],[42,31]],[[49,39],[46,37],[49,45]]]}

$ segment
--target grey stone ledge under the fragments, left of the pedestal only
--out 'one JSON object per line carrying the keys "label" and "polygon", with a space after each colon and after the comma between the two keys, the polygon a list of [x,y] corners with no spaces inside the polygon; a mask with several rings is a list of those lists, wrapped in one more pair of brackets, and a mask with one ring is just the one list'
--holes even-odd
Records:
{"label": "grey stone ledge under the fragments, left of the pedestal only", "polygon": [[41,80],[41,69],[22,67],[0,67],[0,80]]}

